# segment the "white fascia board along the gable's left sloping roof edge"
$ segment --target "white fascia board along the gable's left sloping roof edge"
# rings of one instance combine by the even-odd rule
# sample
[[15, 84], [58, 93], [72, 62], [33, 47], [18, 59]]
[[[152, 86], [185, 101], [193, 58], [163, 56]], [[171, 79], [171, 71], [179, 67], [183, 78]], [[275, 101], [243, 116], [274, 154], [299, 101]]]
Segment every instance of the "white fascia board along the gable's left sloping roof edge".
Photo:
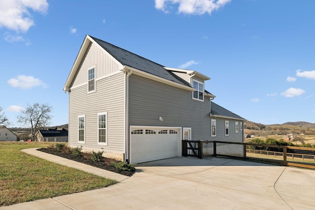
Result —
[[74, 76], [79, 68], [79, 65], [81, 64], [81, 61], [82, 59], [84, 58], [84, 55], [85, 55], [85, 52], [86, 50], [88, 49], [90, 43], [91, 43], [91, 37], [89, 35], [86, 35], [85, 36], [85, 39], [82, 43], [82, 46], [80, 48], [80, 51], [77, 55], [77, 58], [75, 59], [73, 65], [72, 65], [72, 68], [71, 68], [71, 71], [69, 73], [69, 76], [64, 84], [64, 87], [63, 87], [63, 90], [64, 91], [69, 91], [70, 90], [70, 85], [74, 79]]

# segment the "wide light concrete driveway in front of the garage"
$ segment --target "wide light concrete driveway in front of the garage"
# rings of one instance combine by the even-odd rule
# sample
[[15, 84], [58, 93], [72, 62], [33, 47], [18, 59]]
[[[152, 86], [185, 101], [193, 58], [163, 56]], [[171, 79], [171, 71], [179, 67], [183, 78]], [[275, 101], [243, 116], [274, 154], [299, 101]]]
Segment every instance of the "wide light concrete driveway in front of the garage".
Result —
[[176, 157], [136, 168], [106, 188], [1, 209], [315, 209], [315, 170], [218, 157]]

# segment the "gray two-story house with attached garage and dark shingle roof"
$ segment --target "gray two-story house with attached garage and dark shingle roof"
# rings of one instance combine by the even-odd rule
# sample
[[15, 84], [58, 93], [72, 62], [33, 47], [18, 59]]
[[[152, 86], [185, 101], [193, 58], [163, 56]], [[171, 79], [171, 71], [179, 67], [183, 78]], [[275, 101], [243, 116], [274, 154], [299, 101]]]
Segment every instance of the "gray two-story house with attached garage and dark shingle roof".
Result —
[[209, 79], [87, 35], [63, 88], [68, 144], [140, 163], [182, 156], [183, 139], [243, 142], [245, 119], [212, 101]]

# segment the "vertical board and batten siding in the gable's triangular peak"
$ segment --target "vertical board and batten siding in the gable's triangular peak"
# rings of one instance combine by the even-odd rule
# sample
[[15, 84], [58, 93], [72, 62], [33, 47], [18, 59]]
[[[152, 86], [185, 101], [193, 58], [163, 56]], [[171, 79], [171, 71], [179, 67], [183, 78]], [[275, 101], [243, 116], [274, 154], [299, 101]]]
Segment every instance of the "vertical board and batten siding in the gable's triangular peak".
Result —
[[97, 44], [90, 44], [72, 86], [88, 82], [88, 69], [95, 66], [95, 79], [123, 69], [123, 65]]

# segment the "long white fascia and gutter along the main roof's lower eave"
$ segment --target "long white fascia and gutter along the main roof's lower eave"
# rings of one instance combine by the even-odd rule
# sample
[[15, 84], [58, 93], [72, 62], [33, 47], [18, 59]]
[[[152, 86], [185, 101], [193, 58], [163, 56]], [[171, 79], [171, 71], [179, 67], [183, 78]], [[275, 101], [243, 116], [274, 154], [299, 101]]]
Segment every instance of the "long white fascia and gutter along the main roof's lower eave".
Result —
[[149, 74], [147, 72], [141, 71], [139, 69], [136, 69], [136, 68], [133, 68], [133, 67], [130, 67], [130, 66], [127, 66], [127, 65], [124, 65], [124, 68], [121, 69], [121, 71], [128, 71], [128, 70], [131, 70], [132, 74], [136, 74], [136, 75], [139, 75], [139, 76], [142, 76], [142, 77], [154, 80], [154, 81], [158, 81], [160, 83], [167, 84], [167, 85], [170, 85], [170, 86], [173, 86], [173, 87], [177, 87], [177, 88], [181, 88], [181, 89], [189, 90], [189, 91], [194, 91], [195, 90], [192, 87], [189, 87], [189, 86], [186, 86], [186, 85], [182, 85], [182, 84], [179, 84], [179, 83], [176, 83], [176, 82], [173, 82], [173, 81], [170, 81], [170, 80], [158, 77], [158, 76], [153, 75], [153, 74]]

